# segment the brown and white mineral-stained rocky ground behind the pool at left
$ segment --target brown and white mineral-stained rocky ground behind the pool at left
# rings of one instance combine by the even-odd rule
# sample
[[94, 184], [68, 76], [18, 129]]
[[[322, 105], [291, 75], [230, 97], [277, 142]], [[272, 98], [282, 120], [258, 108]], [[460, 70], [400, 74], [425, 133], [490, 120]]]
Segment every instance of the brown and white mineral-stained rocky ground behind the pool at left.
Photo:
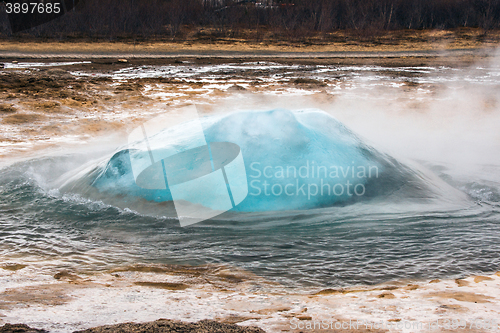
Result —
[[[301, 74], [290, 76], [290, 66], [466, 66], [482, 55], [358, 57], [358, 58], [218, 58], [184, 57], [163, 59], [1, 59], [6, 67], [0, 73], [0, 156], [13, 157], [26, 150], [82, 142], [104, 134], [126, 132], [151, 118], [154, 112], [183, 103], [213, 104], [235, 93], [275, 93], [287, 90], [311, 95], [314, 102], [328, 103], [332, 93], [326, 89], [340, 78], [314, 79]], [[50, 62], [71, 65], [45, 66]], [[7, 64], [37, 62], [33, 67], [8, 67]], [[243, 63], [263, 64], [252, 70], [221, 70], [217, 66]], [[145, 66], [171, 66], [190, 71], [208, 71], [190, 77], [113, 77], [120, 71]], [[283, 66], [270, 69], [269, 66]], [[258, 66], [258, 65], [256, 65]], [[287, 67], [288, 66], [288, 67]], [[76, 73], [76, 74], [75, 74]], [[114, 73], [114, 74], [113, 74]], [[298, 73], [298, 74], [297, 74]], [[288, 77], [287, 77], [288, 75]], [[294, 76], [295, 75], [295, 76]], [[395, 78], [408, 73], [391, 71]], [[419, 88], [408, 81], [408, 89]], [[261, 94], [262, 95], [262, 94]], [[156, 111], [155, 111], [156, 110]]]

